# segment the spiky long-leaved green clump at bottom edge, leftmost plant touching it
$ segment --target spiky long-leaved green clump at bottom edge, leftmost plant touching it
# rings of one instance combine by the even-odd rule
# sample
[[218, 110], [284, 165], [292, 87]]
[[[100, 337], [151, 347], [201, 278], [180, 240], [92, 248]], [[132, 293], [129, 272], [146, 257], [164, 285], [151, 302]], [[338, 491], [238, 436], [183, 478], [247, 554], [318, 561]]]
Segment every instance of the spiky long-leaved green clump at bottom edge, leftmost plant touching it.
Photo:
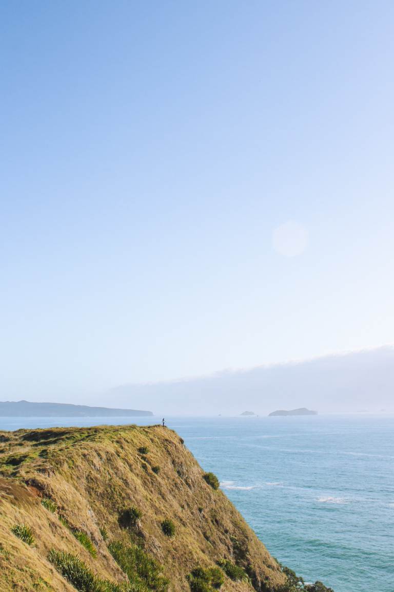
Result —
[[73, 553], [51, 549], [48, 560], [79, 592], [132, 592], [122, 584], [99, 578]]

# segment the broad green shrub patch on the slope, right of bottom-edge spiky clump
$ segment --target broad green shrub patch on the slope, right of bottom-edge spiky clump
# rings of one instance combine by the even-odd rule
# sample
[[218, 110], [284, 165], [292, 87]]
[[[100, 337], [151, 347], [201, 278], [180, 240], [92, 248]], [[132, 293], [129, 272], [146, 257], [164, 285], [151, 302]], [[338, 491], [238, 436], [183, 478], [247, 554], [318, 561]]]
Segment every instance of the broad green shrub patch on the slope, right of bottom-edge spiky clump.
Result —
[[161, 574], [161, 565], [138, 545], [116, 541], [110, 543], [108, 549], [131, 583], [155, 592], [167, 592], [169, 581]]

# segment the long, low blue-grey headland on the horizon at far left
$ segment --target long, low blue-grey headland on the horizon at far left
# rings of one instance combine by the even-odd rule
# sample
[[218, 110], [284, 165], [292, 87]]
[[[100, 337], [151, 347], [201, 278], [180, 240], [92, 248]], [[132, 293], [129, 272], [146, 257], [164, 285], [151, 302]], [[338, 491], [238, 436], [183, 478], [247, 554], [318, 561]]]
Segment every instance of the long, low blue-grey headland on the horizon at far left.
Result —
[[30, 401], [0, 401], [0, 417], [144, 417], [152, 411], [89, 407], [68, 403], [31, 403]]

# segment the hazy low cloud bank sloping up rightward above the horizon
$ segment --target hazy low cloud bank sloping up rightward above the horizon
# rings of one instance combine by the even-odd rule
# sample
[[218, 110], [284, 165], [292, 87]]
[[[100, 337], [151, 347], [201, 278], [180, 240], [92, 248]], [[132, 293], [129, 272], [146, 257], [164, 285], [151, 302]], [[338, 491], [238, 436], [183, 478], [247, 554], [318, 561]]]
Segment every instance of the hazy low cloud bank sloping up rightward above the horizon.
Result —
[[320, 413], [394, 411], [394, 348], [219, 372], [155, 384], [125, 384], [102, 395], [111, 406], [158, 414], [266, 414], [309, 407]]

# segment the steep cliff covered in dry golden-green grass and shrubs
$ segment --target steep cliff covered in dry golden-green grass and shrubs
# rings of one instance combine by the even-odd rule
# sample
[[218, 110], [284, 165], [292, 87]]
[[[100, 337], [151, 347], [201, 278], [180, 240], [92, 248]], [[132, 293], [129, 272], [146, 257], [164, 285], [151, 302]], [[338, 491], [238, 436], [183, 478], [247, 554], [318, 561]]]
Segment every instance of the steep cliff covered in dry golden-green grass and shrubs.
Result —
[[214, 475], [162, 426], [0, 432], [0, 586], [291, 590]]

